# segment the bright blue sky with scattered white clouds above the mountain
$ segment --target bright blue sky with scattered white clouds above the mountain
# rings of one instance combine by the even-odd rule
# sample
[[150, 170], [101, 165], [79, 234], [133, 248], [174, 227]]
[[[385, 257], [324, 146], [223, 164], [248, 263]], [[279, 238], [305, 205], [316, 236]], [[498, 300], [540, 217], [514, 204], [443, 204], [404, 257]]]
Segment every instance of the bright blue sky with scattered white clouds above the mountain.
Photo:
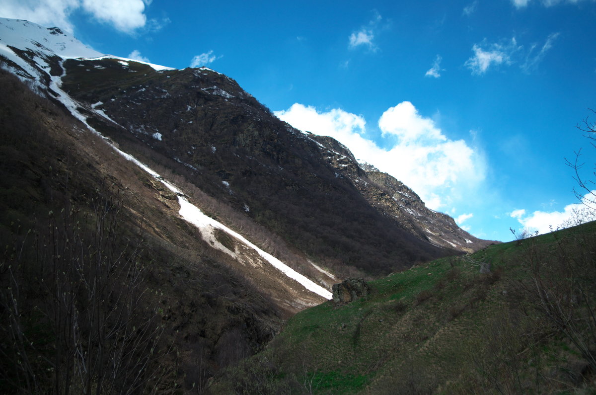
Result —
[[486, 239], [558, 226], [577, 203], [565, 158], [594, 163], [575, 127], [596, 107], [592, 0], [5, 0], [0, 17], [225, 73]]

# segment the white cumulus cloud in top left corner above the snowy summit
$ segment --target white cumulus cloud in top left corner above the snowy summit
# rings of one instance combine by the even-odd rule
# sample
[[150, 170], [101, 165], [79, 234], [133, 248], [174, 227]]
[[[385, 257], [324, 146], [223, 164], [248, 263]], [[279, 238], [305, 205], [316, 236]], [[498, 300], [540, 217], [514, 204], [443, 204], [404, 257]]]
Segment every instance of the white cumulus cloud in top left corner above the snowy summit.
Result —
[[70, 15], [75, 10], [82, 10], [117, 30], [132, 33], [147, 23], [145, 5], [148, 4], [148, 0], [4, 0], [0, 4], [0, 15], [58, 26], [72, 33], [74, 27]]

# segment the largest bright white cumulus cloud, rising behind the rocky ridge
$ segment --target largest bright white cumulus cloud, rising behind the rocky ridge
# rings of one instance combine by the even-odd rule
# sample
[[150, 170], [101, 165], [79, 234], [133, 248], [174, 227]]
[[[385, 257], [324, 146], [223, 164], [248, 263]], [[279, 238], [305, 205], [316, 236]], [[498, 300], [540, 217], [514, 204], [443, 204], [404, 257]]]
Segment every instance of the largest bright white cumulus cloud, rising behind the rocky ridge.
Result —
[[450, 140], [409, 101], [387, 109], [378, 121], [387, 149], [367, 138], [366, 121], [341, 109], [319, 112], [293, 104], [275, 115], [295, 128], [328, 135], [347, 146], [359, 161], [375, 165], [411, 187], [427, 206], [439, 209], [463, 198], [485, 178], [481, 153], [464, 140]]

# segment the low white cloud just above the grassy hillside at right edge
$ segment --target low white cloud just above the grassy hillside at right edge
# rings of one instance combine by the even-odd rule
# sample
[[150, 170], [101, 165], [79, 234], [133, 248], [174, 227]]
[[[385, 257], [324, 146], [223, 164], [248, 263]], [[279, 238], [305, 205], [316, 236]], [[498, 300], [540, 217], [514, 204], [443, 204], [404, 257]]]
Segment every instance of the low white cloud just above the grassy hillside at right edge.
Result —
[[[596, 191], [592, 191], [592, 194]], [[538, 233], [548, 233], [552, 229], [579, 225], [596, 220], [596, 204], [590, 201], [592, 195], [586, 195], [581, 203], [566, 205], [563, 211], [534, 211], [526, 215], [525, 209], [511, 212], [510, 217], [516, 218], [524, 229]]]

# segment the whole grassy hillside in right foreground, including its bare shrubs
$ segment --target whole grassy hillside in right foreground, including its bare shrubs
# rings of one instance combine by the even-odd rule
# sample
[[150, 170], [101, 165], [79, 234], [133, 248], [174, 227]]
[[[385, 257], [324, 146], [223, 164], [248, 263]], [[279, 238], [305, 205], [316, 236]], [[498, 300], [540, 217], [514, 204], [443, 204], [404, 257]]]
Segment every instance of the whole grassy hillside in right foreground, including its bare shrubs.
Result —
[[594, 393], [595, 248], [588, 223], [390, 274], [296, 314], [213, 393]]

